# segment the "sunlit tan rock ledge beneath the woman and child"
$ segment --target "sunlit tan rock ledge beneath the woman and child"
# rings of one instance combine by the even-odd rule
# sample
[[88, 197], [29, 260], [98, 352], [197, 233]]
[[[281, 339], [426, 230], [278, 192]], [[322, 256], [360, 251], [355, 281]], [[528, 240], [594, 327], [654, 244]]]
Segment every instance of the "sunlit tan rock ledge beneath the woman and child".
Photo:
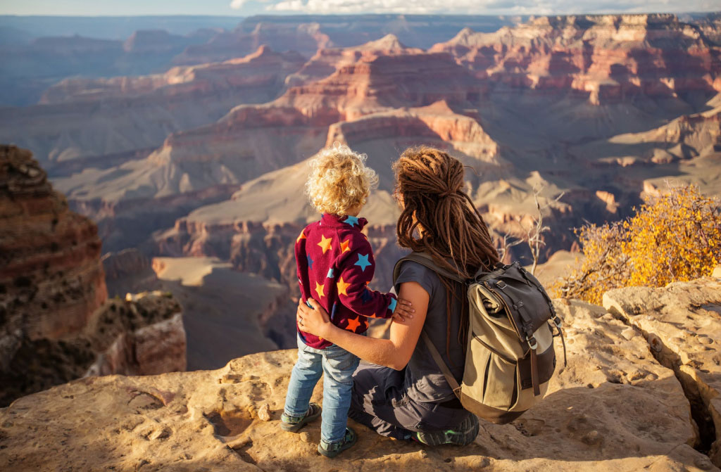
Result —
[[[696, 307], [718, 303], [720, 280], [624, 290], [612, 293], [640, 313], [629, 319], [641, 316], [681, 331], [718, 319], [717, 312], [702, 313]], [[664, 290], [673, 293], [661, 295]], [[645, 314], [667, 302], [678, 313], [668, 311], [673, 316], [668, 324], [655, 320], [655, 313]], [[335, 460], [319, 457], [320, 422], [300, 434], [279, 429], [296, 357], [289, 350], [249, 355], [212, 371], [76, 380], [21, 398], [0, 411], [0, 464], [121, 471], [337, 471], [358, 466], [368, 471], [718, 471], [715, 459], [692, 447], [699, 438], [692, 419], [695, 407], [674, 371], [656, 360], [655, 338], [649, 344], [646, 329], [616, 319], [618, 311], [608, 313], [576, 300], [554, 303], [566, 326], [567, 367], [559, 362], [546, 398], [537, 406], [510, 424], [481, 422], [475, 442], [462, 449], [392, 441], [349, 421], [359, 433], [358, 443]], [[718, 355], [712, 337], [681, 336], [694, 356]], [[560, 342], [557, 352], [561, 355]], [[717, 365], [712, 357], [704, 358], [710, 361], [703, 366], [711, 369], [707, 378], [713, 378]], [[321, 390], [318, 386], [314, 401], [322, 401]], [[59, 445], [63, 453], [48, 454]]]

